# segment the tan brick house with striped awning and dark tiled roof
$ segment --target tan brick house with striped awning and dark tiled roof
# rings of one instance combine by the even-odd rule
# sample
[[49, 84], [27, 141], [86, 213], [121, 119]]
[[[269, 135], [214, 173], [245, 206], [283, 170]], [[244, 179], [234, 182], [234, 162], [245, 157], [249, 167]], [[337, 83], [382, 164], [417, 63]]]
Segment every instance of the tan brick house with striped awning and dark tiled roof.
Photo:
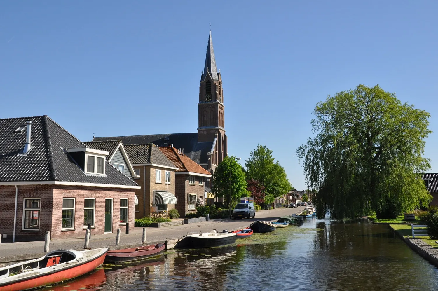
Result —
[[153, 143], [124, 145], [124, 149], [136, 174], [134, 181], [141, 186], [135, 192], [138, 199], [135, 218], [150, 216], [151, 207], [157, 207], [158, 213], [175, 208], [178, 168]]

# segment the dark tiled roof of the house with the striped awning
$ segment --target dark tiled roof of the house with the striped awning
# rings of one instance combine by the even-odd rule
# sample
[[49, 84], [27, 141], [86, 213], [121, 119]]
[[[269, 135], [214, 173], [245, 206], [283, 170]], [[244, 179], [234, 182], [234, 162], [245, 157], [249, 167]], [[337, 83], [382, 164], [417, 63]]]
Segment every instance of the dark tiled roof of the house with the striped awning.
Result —
[[154, 144], [124, 145], [129, 160], [134, 164], [153, 163], [166, 167], [176, 167]]

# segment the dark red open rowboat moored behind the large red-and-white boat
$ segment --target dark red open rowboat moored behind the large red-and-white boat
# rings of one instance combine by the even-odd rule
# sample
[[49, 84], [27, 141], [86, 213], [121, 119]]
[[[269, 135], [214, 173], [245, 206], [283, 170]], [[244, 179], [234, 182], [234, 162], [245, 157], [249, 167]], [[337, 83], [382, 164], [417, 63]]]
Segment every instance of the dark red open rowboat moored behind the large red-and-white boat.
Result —
[[147, 259], [161, 254], [165, 247], [165, 244], [156, 244], [145, 245], [138, 248], [116, 249], [106, 253], [105, 262], [120, 263]]

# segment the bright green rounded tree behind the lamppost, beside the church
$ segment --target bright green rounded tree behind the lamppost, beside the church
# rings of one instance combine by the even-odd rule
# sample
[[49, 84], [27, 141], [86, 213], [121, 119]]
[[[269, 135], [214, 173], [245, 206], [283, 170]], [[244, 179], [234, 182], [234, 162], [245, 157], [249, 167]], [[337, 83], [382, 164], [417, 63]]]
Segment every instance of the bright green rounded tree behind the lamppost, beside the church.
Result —
[[[230, 180], [231, 169], [231, 180]], [[230, 200], [230, 186], [231, 186], [231, 200]], [[240, 200], [240, 197], [248, 195], [247, 180], [244, 169], [236, 161], [234, 156], [226, 156], [221, 163], [216, 167], [213, 174], [212, 192], [215, 197], [223, 197], [227, 207]]]

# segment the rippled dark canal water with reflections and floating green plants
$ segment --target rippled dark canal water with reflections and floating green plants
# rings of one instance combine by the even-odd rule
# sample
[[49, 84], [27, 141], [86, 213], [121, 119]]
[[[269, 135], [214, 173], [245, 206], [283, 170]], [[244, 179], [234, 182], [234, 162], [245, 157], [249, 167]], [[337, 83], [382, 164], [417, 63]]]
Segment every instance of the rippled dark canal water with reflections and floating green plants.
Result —
[[174, 249], [102, 269], [44, 291], [437, 290], [438, 269], [387, 225], [307, 219], [238, 244]]

